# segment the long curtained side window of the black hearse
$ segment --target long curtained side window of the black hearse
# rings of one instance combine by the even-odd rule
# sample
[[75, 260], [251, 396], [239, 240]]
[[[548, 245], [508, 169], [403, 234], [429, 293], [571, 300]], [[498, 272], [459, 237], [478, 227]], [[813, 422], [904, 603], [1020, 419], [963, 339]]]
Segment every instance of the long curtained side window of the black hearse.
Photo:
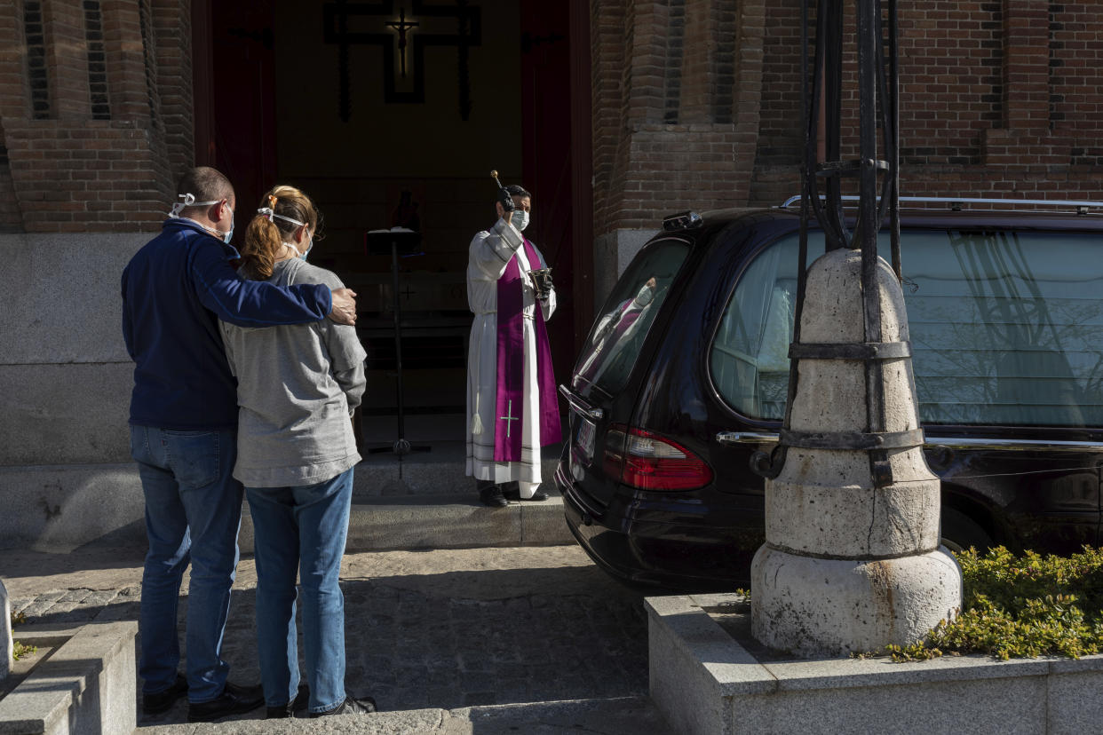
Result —
[[[794, 235], [754, 258], [713, 343], [713, 382], [749, 418], [784, 417], [796, 248]], [[1103, 426], [1097, 236], [906, 230], [901, 250], [923, 423]]]

